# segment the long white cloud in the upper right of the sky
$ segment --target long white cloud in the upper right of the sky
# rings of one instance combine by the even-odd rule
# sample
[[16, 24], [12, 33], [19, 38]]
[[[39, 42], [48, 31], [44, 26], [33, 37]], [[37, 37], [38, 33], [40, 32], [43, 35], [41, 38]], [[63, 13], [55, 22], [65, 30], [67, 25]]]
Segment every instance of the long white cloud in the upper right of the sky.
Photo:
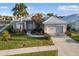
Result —
[[59, 11], [79, 11], [79, 6], [69, 5], [69, 6], [58, 6]]

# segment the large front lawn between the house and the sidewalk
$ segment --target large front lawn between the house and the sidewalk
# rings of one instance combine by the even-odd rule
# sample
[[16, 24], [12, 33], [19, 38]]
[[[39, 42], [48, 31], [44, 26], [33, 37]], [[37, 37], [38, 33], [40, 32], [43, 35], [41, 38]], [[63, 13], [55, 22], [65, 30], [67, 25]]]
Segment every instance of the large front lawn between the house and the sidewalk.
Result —
[[11, 37], [9, 41], [1, 41], [0, 37], [0, 50], [53, 45], [48, 37], [35, 38], [19, 34], [11, 35]]

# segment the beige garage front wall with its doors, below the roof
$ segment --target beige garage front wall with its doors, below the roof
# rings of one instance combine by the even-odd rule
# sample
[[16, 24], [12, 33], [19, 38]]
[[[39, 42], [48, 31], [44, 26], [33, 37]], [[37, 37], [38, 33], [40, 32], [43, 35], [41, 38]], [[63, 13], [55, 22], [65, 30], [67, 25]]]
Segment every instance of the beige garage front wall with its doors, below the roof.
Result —
[[62, 33], [65, 33], [65, 30], [66, 27], [63, 27], [63, 26], [53, 26], [53, 25], [46, 25], [45, 27], [45, 33], [48, 33], [48, 34], [52, 34], [52, 35], [59, 35], [59, 34], [62, 34]]

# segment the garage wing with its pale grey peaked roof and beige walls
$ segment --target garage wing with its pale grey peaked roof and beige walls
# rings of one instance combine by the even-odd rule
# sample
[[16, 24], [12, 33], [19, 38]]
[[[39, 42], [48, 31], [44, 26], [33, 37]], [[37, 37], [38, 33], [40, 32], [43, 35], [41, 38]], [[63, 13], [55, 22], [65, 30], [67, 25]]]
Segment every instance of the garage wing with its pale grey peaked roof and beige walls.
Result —
[[67, 23], [59, 18], [51, 17], [43, 22], [45, 33], [60, 35], [66, 32]]

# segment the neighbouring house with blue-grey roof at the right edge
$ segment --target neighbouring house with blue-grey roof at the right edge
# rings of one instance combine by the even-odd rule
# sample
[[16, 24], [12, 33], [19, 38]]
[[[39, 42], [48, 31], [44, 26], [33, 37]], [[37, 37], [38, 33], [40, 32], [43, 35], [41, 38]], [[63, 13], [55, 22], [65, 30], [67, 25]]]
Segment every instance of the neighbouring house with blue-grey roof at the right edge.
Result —
[[71, 30], [79, 31], [79, 14], [64, 16], [62, 19], [68, 22]]

